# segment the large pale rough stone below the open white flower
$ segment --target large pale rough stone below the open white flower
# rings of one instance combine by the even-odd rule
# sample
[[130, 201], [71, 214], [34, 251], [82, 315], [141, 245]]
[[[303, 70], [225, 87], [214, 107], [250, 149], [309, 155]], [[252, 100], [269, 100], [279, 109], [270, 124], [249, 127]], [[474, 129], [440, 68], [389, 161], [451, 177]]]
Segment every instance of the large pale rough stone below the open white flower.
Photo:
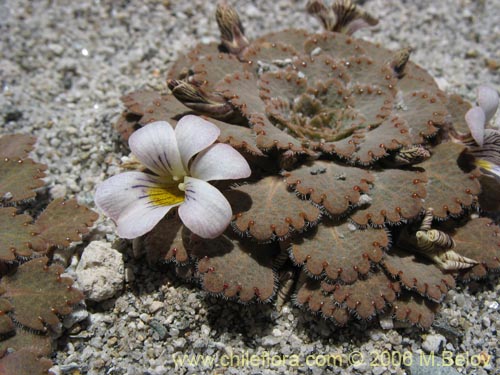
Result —
[[123, 256], [108, 242], [92, 241], [83, 251], [75, 273], [86, 298], [104, 301], [123, 287]]

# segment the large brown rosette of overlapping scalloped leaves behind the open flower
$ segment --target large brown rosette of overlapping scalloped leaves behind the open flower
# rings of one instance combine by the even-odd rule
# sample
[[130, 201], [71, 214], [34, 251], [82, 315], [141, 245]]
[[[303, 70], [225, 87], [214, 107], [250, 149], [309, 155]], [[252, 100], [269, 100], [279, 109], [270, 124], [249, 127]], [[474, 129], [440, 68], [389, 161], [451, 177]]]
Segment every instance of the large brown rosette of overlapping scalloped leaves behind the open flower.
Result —
[[[480, 172], [462, 169], [466, 146], [449, 141], [455, 125], [463, 130], [448, 110], [456, 96], [410, 61], [411, 48], [353, 37], [375, 21], [350, 1], [310, 1], [308, 11], [323, 32], [251, 40], [221, 3], [220, 44], [181, 54], [170, 91], [123, 97], [116, 128], [124, 140], [149, 122], [175, 126], [197, 114], [253, 171], [225, 188], [234, 217], [223, 236], [197, 238], [174, 214], [144, 246], [150, 259], [174, 263], [223, 298], [270, 302], [285, 288], [333, 324], [390, 313], [428, 328], [459, 274], [479, 278], [500, 266], [498, 227], [470, 219]], [[490, 241], [487, 253], [478, 233]]]

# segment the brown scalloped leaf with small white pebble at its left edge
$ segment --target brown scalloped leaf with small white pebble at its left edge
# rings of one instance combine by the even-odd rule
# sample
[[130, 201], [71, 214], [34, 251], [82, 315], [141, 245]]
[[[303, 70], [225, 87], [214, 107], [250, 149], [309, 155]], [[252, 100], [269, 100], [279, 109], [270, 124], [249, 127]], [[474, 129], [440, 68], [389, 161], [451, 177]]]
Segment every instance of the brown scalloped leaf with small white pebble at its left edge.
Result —
[[368, 192], [369, 207], [356, 211], [351, 219], [358, 225], [398, 224], [416, 218], [425, 197], [425, 173], [386, 169], [373, 171], [375, 180]]

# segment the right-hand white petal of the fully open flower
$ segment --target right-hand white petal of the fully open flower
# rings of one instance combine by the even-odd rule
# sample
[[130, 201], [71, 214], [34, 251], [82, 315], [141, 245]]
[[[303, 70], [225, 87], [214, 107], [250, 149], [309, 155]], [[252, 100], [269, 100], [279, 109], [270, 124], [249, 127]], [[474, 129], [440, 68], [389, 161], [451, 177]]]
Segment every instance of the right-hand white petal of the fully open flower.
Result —
[[189, 174], [203, 181], [235, 180], [249, 177], [252, 171], [241, 154], [229, 145], [217, 143], [200, 152]]

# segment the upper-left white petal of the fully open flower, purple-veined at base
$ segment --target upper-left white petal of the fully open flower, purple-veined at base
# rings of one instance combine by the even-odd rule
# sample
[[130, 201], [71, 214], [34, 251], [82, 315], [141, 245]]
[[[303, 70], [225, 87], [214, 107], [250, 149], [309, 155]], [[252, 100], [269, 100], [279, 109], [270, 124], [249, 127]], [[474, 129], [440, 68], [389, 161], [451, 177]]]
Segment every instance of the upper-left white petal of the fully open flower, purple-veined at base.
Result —
[[174, 129], [168, 122], [156, 121], [136, 130], [128, 144], [137, 159], [159, 176], [186, 175]]

